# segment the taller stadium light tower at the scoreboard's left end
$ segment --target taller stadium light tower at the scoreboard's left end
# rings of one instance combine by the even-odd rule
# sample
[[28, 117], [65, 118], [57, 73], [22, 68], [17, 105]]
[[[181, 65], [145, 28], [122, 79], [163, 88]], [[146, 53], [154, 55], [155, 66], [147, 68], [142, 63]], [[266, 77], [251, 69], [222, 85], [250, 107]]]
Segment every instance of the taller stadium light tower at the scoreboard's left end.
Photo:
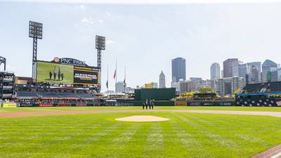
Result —
[[29, 36], [33, 38], [32, 79], [36, 79], [37, 39], [42, 39], [43, 24], [30, 21]]

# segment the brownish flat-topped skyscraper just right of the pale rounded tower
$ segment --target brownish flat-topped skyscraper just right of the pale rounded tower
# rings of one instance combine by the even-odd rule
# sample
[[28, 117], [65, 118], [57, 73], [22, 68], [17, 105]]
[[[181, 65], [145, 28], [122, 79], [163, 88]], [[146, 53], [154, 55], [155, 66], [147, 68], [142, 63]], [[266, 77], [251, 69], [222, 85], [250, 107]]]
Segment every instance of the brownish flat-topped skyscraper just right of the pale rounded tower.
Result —
[[230, 58], [223, 62], [223, 77], [238, 77], [239, 69], [238, 69], [239, 61], [237, 58]]

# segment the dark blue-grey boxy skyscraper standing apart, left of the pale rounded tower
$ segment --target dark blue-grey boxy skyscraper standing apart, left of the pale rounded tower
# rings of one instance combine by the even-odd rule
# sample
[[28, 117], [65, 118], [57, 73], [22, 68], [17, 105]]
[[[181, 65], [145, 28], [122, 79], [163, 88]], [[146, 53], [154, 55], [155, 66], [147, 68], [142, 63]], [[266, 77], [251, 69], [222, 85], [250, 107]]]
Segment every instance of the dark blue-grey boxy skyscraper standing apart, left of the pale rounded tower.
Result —
[[175, 58], [171, 60], [171, 78], [176, 79], [178, 82], [179, 79], [186, 79], [186, 67], [184, 58]]

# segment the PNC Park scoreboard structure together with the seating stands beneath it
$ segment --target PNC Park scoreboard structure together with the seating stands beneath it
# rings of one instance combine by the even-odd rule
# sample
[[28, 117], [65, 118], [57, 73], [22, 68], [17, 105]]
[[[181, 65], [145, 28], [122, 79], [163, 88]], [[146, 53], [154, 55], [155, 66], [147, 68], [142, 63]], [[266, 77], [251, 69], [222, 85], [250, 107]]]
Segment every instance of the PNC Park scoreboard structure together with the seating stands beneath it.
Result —
[[81, 60], [57, 58], [37, 60], [35, 80], [15, 77], [15, 100], [19, 106], [90, 106], [98, 99], [100, 68]]

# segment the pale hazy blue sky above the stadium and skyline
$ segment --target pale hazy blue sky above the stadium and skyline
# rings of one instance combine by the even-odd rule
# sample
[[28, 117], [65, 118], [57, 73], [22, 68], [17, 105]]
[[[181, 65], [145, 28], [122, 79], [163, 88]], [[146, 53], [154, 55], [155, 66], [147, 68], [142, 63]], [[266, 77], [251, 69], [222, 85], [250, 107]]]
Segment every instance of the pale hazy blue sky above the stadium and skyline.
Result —
[[[54, 1], [53, 1], [54, 2]], [[71, 2], [71, 3], [70, 3]], [[186, 60], [187, 78], [210, 78], [210, 66], [238, 58], [242, 62], [281, 63], [281, 2], [101, 4], [68, 1], [1, 1], [0, 56], [6, 70], [31, 77], [29, 20], [43, 23], [38, 60], [76, 58], [96, 66], [96, 34], [106, 37], [102, 51], [102, 91], [117, 80], [136, 88], [159, 81], [163, 70], [171, 86], [171, 60]], [[0, 70], [3, 66], [0, 67]]]

